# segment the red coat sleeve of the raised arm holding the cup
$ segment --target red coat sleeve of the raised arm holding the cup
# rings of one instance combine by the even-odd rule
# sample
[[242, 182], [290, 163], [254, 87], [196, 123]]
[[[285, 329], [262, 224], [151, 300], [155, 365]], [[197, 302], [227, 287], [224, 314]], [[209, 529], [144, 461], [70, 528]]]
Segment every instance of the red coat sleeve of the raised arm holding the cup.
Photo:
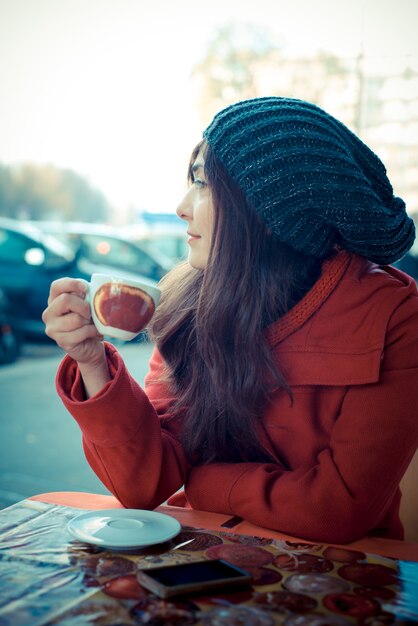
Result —
[[143, 390], [111, 344], [106, 353], [112, 380], [97, 395], [84, 400], [77, 365], [68, 356], [58, 370], [57, 390], [106, 488], [127, 508], [152, 509], [184, 484], [188, 471], [167, 385], [158, 382], [164, 362], [155, 350]]

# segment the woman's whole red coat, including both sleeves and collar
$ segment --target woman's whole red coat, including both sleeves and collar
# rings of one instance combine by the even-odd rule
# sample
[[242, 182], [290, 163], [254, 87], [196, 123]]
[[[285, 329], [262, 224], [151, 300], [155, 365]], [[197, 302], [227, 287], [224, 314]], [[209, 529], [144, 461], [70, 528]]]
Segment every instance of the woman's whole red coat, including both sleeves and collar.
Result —
[[277, 459], [267, 464], [189, 466], [157, 351], [144, 391], [108, 344], [113, 380], [86, 401], [66, 357], [58, 390], [94, 471], [126, 507], [154, 508], [185, 485], [196, 509], [306, 539], [402, 538], [399, 482], [418, 446], [414, 281], [341, 252], [268, 338], [293, 403], [277, 391], [263, 416], [261, 441]]

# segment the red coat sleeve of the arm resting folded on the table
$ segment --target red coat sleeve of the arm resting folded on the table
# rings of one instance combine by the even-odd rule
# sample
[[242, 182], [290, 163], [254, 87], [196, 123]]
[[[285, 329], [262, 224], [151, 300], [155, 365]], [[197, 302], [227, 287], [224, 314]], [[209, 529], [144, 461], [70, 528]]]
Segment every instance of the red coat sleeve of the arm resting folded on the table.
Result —
[[[393, 512], [399, 482], [418, 446], [417, 407], [414, 297], [392, 314], [379, 381], [348, 388], [329, 446], [315, 464], [294, 471], [274, 463], [196, 467], [186, 483], [187, 499], [194, 508], [291, 535], [354, 541]], [[392, 519], [396, 523], [401, 534], [399, 520]]]

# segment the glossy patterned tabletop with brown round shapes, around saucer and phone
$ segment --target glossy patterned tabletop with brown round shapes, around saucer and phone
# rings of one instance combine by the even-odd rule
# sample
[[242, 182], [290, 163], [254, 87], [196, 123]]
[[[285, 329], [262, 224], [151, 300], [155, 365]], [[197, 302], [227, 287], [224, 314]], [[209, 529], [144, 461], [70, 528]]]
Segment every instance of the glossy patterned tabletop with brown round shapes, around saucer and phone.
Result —
[[[110, 508], [122, 508], [112, 496], [59, 492], [0, 511], [1, 626], [383, 626], [418, 619], [415, 544], [309, 543], [169, 506], [157, 510], [182, 529], [158, 546], [114, 552], [69, 535], [67, 523], [81, 510]], [[208, 558], [247, 569], [251, 586], [163, 601], [136, 580], [138, 569]]]

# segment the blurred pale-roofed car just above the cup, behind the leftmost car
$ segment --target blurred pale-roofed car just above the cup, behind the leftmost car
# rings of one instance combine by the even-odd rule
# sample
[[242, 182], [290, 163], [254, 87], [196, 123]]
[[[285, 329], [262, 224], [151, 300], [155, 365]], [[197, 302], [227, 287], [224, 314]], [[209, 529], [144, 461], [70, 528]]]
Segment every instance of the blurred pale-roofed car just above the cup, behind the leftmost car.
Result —
[[31, 222], [44, 233], [70, 246], [78, 258], [111, 265], [159, 281], [173, 266], [158, 250], [152, 251], [131, 240], [122, 230], [83, 222]]

